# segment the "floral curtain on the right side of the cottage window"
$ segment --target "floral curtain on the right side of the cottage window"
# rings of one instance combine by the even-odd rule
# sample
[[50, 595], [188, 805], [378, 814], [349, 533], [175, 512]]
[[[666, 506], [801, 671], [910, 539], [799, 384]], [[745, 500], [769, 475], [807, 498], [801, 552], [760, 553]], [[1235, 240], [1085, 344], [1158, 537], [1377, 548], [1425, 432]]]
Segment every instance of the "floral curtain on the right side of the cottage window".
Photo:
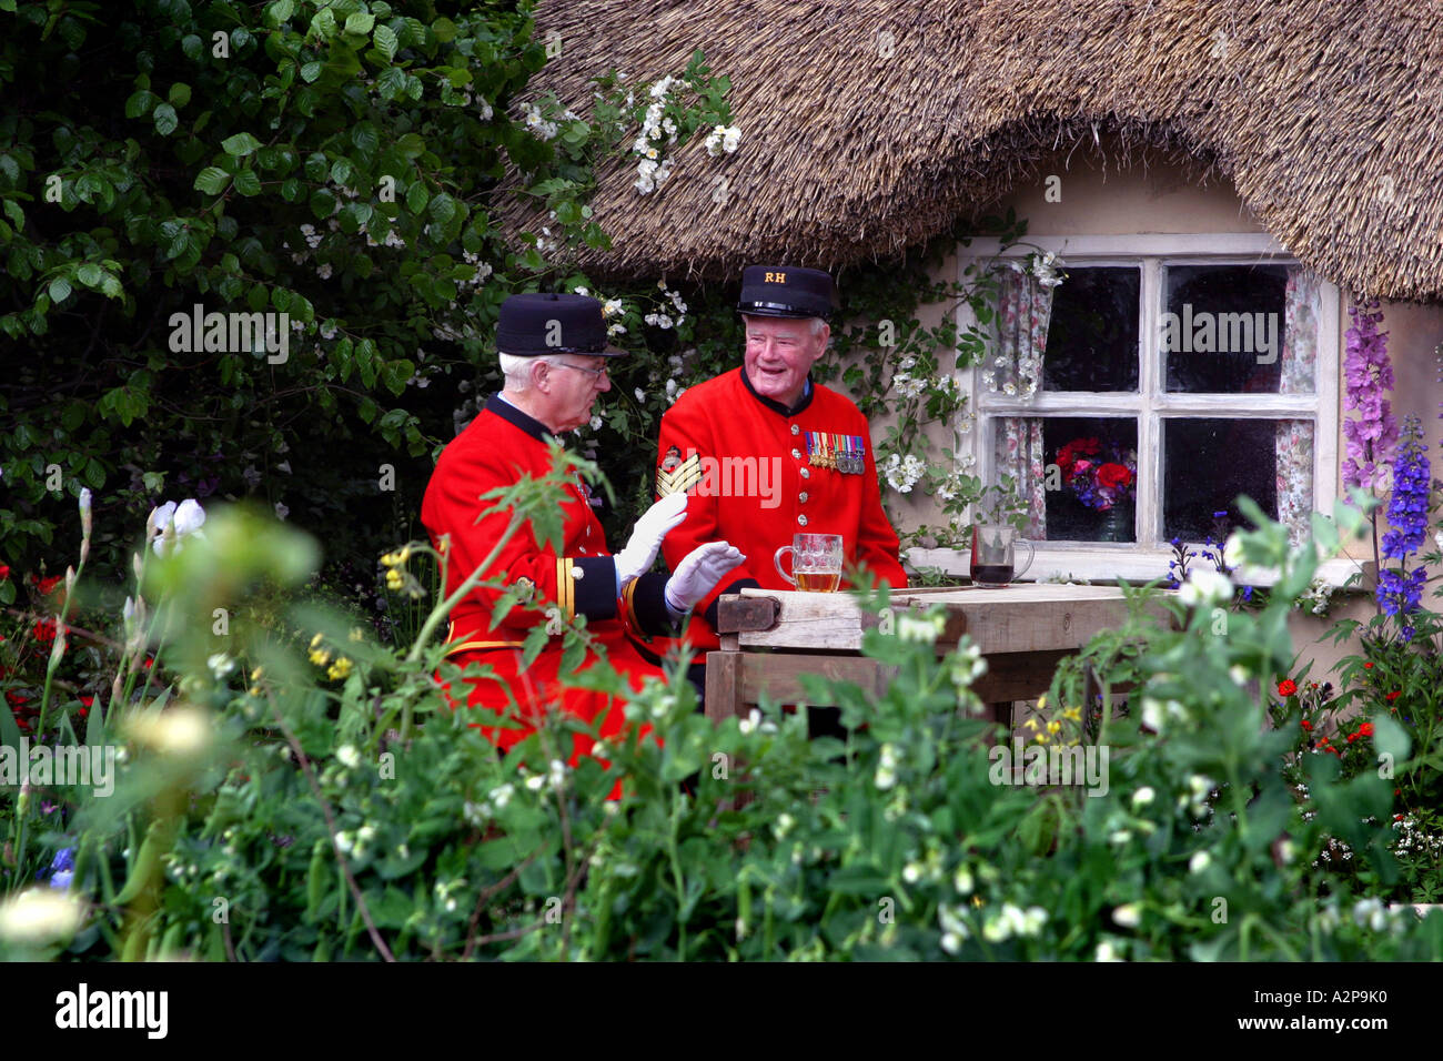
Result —
[[[1322, 281], [1302, 266], [1287, 270], [1280, 394], [1313, 394], [1317, 380], [1317, 320], [1322, 315]], [[1277, 518], [1299, 544], [1313, 511], [1312, 420], [1278, 420], [1274, 436], [1277, 465]]]

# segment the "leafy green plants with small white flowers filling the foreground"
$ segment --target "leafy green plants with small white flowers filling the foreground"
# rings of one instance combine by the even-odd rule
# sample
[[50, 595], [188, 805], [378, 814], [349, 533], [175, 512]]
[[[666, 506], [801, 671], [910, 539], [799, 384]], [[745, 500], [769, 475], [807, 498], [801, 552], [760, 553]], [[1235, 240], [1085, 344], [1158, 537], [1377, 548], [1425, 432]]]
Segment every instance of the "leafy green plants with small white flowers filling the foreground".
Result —
[[[517, 484], [512, 528], [554, 508], [567, 475], [563, 462]], [[1277, 524], [1241, 546], [1287, 586], [1316, 566], [1312, 543], [1290, 551]], [[387, 567], [405, 570], [416, 549]], [[867, 632], [864, 652], [895, 668], [880, 697], [808, 678], [808, 697], [841, 704], [846, 741], [810, 741], [804, 713], [771, 704], [713, 725], [674, 667], [631, 697], [625, 742], [576, 768], [574, 719], [551, 717], [501, 758], [469, 723], [504, 719], [452, 710], [433, 678], [439, 667], [462, 680], [433, 644], [450, 602], [408, 650], [309, 609], [291, 616], [313, 631], [309, 661], [263, 628], [232, 628], [214, 651], [198, 621], [208, 609], [240, 612], [267, 580], [294, 586], [316, 554], [268, 518], [219, 512], [205, 538], [146, 563], [137, 590], [156, 606], [140, 641], [172, 645], [177, 696], [117, 697], [91, 719], [92, 743], [126, 749], [114, 795], [42, 788], [14, 803], [7, 889], [48, 876], [58, 849], [74, 853], [74, 875], [42, 892], [65, 911], [48, 934], [19, 938], [13, 907], [0, 909], [7, 954], [1443, 957], [1443, 917], [1390, 914], [1355, 891], [1362, 875], [1309, 862], [1338, 837], [1394, 879], [1368, 823], [1387, 813], [1391, 781], [1310, 756], [1312, 798], [1293, 798], [1291, 733], [1267, 728], [1248, 689], [1290, 655], [1271, 635], [1286, 629], [1284, 595], [1224, 637], [1206, 609], [1176, 603], [1176, 629], [1128, 625], [1134, 710], [1087, 728], [1058, 700], [1029, 738], [1105, 751], [1101, 774], [1039, 790], [1013, 784], [999, 767], [1010, 749], [983, 741], [971, 683], [986, 664], [965, 638], [938, 655], [941, 615], [898, 612]], [[574, 680], [623, 681], [605, 665]], [[22, 839], [16, 857], [27, 827], [40, 843], [26, 853]]]

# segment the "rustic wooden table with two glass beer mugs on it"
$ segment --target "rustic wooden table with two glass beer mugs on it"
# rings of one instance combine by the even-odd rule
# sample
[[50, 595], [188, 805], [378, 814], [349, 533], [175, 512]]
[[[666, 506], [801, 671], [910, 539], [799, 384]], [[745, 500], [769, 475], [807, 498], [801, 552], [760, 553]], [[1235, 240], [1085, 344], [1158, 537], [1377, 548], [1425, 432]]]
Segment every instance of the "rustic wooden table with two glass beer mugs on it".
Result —
[[[1127, 616], [1123, 590], [1113, 586], [1017, 583], [1006, 589], [928, 588], [892, 595], [895, 615], [942, 605], [947, 625], [938, 652], [967, 634], [987, 658], [987, 673], [973, 686], [993, 704], [999, 722], [1010, 719], [1013, 700], [1045, 693], [1065, 655], [1092, 635], [1115, 629]], [[1160, 616], [1166, 611], [1152, 609]], [[817, 703], [805, 696], [802, 674], [853, 681], [880, 697], [895, 674], [860, 655], [861, 635], [882, 616], [864, 612], [851, 593], [797, 593], [743, 589], [720, 599], [722, 651], [707, 652], [707, 717], [745, 715], [762, 694], [781, 703]], [[768, 651], [769, 650], [769, 651]]]

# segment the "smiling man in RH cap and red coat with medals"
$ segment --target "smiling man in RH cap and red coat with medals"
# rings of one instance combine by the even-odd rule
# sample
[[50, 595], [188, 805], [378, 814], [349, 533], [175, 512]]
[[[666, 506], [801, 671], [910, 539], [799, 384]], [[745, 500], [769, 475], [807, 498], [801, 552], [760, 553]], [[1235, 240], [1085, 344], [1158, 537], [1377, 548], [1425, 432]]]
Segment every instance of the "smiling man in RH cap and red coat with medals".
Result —
[[746, 554], [697, 602], [706, 625], [694, 622], [688, 632], [698, 650], [719, 647], [722, 593], [794, 589], [773, 553], [798, 531], [840, 534], [844, 564], [869, 570], [877, 583], [906, 586], [898, 536], [882, 511], [867, 420], [847, 397], [810, 378], [831, 338], [833, 302], [831, 274], [823, 270], [747, 267], [737, 306], [746, 322], [742, 365], [688, 388], [661, 417], [657, 495], [691, 494], [687, 521], [662, 544], [667, 562], [711, 538]]

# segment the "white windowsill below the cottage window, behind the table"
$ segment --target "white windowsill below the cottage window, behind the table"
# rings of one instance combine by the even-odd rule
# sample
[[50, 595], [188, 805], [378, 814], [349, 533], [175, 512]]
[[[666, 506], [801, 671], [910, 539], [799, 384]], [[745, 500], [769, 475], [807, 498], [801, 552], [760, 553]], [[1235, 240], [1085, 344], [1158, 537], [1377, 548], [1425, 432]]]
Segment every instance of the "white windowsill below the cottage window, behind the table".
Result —
[[[1121, 577], [1140, 585], [1152, 579], [1166, 579], [1167, 563], [1172, 559], [1170, 549], [1154, 550], [1134, 546], [1039, 549], [1038, 559], [1017, 582], [1065, 577], [1100, 583], [1115, 582]], [[971, 554], [961, 549], [909, 549], [905, 560], [912, 570], [939, 569], [952, 576], [967, 575], [971, 570]], [[1206, 564], [1206, 562], [1203, 563]], [[1211, 564], [1206, 566], [1211, 567]], [[1317, 577], [1329, 586], [1341, 588], [1349, 577], [1361, 572], [1361, 560], [1335, 557], [1319, 564]], [[1277, 570], [1244, 567], [1234, 575], [1234, 580], [1244, 586], [1271, 586], [1277, 582]]]

